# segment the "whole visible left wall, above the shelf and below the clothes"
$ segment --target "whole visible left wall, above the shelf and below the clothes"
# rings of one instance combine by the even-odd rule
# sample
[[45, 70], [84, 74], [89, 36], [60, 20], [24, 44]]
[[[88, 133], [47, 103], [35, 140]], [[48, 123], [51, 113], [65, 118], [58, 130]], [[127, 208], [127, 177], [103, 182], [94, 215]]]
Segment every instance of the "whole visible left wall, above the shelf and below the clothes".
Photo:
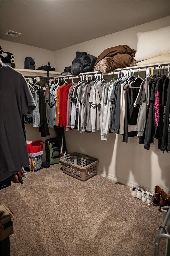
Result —
[[[16, 68], [24, 68], [25, 57], [32, 57], [35, 59], [36, 69], [40, 66], [47, 65], [51, 62], [51, 66], [54, 67], [54, 52], [41, 49], [38, 47], [14, 43], [6, 40], [1, 40], [1, 47], [4, 51], [11, 52], [15, 58]], [[49, 129], [49, 137], [41, 137], [39, 128], [33, 127], [32, 124], [26, 125], [27, 143], [31, 143], [36, 140], [45, 141], [47, 138], [56, 137], [56, 133], [53, 128]], [[45, 147], [44, 147], [43, 161], [45, 161]]]

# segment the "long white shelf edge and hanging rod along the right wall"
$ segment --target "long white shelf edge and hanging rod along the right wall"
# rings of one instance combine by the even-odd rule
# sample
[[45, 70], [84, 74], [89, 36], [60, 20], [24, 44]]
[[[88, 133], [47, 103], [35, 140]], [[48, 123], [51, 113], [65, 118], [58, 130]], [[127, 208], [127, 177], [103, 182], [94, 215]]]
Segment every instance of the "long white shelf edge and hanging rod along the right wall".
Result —
[[[82, 76], [82, 75], [89, 75], [89, 77], [92, 75], [92, 74], [103, 74], [103, 76], [109, 76], [109, 75], [117, 75], [117, 74], [119, 74], [119, 72], [121, 71], [121, 70], [129, 70], [129, 69], [134, 69], [134, 72], [138, 72], [138, 70], [139, 70], [139, 72], [145, 72], [146, 71], [146, 68], [148, 68], [148, 67], [155, 67], [155, 70], [158, 70], [160, 67], [163, 67], [164, 69], [168, 69], [168, 65], [169, 65], [170, 63], [159, 63], [159, 64], [151, 64], [151, 65], [148, 65], [148, 66], [135, 66], [135, 67], [127, 67], [127, 68], [122, 68], [122, 69], [115, 69], [114, 71], [112, 71], [112, 72], [110, 72], [110, 73], [107, 73], [107, 74], [104, 74], [104, 73], [102, 73], [102, 72], [98, 72], [98, 71], [94, 71], [94, 72], [85, 72], [85, 73], [80, 73], [78, 76], [71, 76], [71, 75], [67, 75], [67, 76], [57, 76], [57, 77], [54, 77], [54, 78], [66, 78], [66, 79], [69, 79], [69, 78], [75, 78], [75, 79], [77, 79], [78, 77], [80, 77], [80, 76]], [[166, 65], [166, 66], [165, 66]], [[142, 68], [141, 68], [142, 67]]]

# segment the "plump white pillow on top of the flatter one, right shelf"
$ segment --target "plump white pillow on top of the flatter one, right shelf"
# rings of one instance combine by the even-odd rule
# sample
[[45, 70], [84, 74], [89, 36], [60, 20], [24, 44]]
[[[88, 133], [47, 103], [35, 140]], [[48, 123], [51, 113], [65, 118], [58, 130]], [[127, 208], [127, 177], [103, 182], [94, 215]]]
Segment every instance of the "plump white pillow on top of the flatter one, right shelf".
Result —
[[170, 26], [165, 28], [137, 33], [137, 52], [135, 60], [150, 59], [170, 51]]

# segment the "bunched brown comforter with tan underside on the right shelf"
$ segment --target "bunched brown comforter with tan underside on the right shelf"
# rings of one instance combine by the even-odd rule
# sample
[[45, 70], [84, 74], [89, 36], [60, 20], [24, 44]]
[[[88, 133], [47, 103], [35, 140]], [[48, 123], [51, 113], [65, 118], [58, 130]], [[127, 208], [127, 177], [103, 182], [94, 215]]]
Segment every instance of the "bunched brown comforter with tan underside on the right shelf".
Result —
[[116, 68], [129, 67], [132, 60], [134, 60], [136, 50], [130, 48], [128, 45], [118, 45], [107, 48], [98, 56], [94, 71], [108, 73]]

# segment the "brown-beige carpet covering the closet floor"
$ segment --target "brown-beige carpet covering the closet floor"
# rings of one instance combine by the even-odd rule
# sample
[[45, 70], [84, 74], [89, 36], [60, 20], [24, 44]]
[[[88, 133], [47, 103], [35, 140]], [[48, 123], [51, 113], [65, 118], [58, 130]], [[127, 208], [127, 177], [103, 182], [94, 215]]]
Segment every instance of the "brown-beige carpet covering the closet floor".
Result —
[[11, 256], [154, 255], [163, 222], [157, 207], [132, 198], [125, 185], [99, 175], [82, 182], [60, 167], [1, 190], [15, 214]]

